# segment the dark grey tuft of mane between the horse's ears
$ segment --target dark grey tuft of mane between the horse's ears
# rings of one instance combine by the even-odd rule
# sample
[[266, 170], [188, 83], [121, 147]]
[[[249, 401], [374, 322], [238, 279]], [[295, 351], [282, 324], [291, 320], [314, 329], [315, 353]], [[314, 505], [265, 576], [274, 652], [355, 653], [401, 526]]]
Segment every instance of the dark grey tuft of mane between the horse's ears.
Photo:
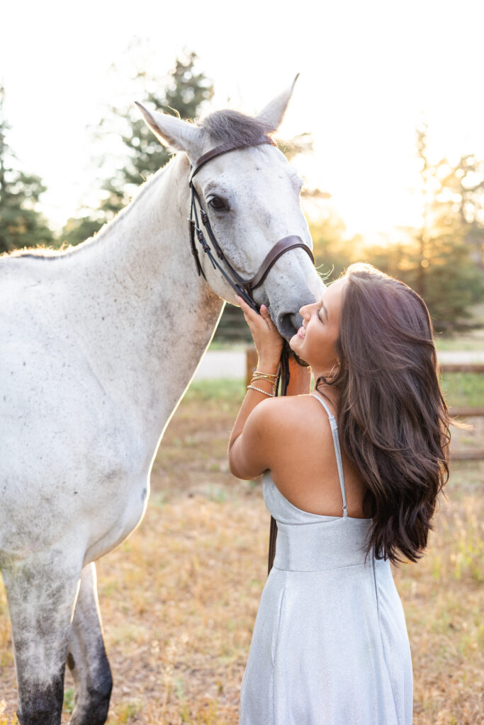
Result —
[[270, 124], [231, 110], [210, 113], [202, 119], [200, 128], [206, 130], [216, 143], [225, 144], [231, 141], [246, 146], [253, 146], [261, 137], [269, 138], [274, 132]]

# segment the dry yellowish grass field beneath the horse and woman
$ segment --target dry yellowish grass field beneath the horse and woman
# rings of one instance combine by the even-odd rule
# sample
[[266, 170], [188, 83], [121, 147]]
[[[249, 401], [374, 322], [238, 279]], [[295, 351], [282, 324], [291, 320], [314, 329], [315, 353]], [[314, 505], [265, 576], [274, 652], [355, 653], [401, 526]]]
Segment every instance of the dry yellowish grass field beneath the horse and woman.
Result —
[[[454, 405], [484, 405], [482, 378], [448, 376]], [[139, 529], [98, 564], [115, 687], [109, 722], [235, 725], [266, 579], [258, 481], [234, 479], [229, 431], [239, 381], [194, 384], [171, 421]], [[482, 421], [481, 421], [482, 422]], [[472, 447], [483, 426], [456, 431]], [[414, 663], [414, 725], [483, 722], [484, 461], [456, 462], [427, 554], [394, 570]], [[73, 705], [67, 675], [64, 721]], [[15, 673], [0, 589], [0, 725], [15, 722]]]

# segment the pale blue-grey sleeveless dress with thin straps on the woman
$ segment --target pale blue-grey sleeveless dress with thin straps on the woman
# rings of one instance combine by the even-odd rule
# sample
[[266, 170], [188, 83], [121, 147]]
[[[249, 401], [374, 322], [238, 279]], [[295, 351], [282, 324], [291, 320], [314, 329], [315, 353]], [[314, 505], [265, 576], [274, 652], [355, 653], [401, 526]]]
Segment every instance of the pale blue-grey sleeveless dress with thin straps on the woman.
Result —
[[409, 637], [389, 560], [363, 550], [372, 520], [348, 516], [337, 423], [329, 415], [343, 516], [292, 505], [263, 476], [277, 521], [242, 681], [239, 725], [411, 725]]

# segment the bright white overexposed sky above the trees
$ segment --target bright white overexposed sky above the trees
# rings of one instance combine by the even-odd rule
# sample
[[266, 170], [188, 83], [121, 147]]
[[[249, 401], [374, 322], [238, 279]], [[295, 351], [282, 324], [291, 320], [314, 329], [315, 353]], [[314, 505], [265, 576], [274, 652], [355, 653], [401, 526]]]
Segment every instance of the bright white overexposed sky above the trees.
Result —
[[300, 72], [282, 135], [313, 133], [313, 155], [296, 165], [351, 232], [418, 223], [422, 118], [436, 155], [484, 158], [483, 0], [26, 0], [1, 20], [10, 141], [48, 186], [43, 210], [58, 226], [89, 198], [86, 127], [116, 102], [108, 70], [134, 36], [147, 39], [160, 79], [184, 47], [196, 51], [214, 109], [230, 98], [257, 112]]

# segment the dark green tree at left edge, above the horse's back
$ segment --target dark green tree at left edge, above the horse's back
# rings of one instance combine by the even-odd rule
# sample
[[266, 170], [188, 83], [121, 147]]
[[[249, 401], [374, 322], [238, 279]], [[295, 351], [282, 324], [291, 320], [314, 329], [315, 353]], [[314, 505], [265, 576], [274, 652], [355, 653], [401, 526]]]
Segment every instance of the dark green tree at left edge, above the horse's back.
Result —
[[46, 187], [41, 178], [15, 169], [9, 148], [9, 124], [4, 116], [5, 89], [0, 86], [0, 253], [52, 244], [52, 231], [38, 212]]

